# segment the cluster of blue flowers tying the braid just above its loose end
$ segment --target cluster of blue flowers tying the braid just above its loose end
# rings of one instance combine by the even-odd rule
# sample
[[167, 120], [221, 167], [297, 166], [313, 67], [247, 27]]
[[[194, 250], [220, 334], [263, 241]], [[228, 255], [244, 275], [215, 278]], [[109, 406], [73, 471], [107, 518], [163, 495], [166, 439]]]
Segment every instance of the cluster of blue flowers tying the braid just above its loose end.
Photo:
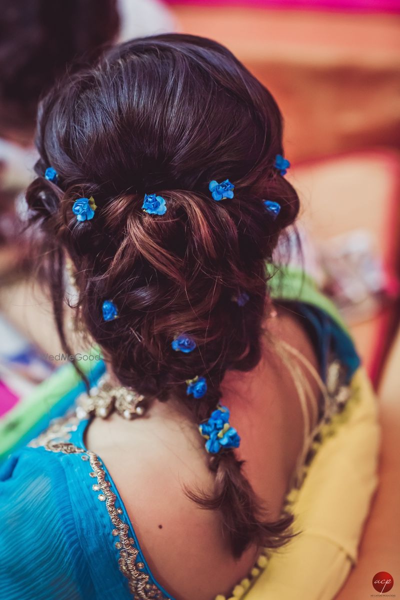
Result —
[[207, 440], [206, 451], [218, 454], [221, 448], [239, 448], [240, 436], [229, 424], [230, 412], [226, 406], [219, 406], [205, 423], [199, 425], [201, 435]]

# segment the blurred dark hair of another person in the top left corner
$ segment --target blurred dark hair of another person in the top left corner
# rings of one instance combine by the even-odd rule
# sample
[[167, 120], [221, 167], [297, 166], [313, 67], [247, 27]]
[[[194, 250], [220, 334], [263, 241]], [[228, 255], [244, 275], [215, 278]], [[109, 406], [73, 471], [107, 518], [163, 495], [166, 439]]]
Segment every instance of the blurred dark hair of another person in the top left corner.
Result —
[[33, 130], [40, 95], [118, 29], [116, 0], [2, 0], [0, 129]]

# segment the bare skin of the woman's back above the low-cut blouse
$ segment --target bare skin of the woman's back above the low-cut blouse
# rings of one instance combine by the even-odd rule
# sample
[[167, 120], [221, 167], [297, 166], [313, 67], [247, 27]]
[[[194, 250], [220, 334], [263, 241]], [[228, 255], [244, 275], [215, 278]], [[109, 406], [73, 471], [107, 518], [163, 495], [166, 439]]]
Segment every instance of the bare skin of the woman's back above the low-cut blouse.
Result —
[[[265, 326], [263, 359], [249, 373], [226, 374], [222, 404], [242, 439], [237, 458], [246, 461], [248, 481], [276, 519], [302, 449], [304, 424], [293, 380], [270, 338], [287, 341], [315, 368], [317, 359], [302, 325], [287, 310], [278, 309]], [[308, 409], [312, 417], [311, 403]], [[200, 509], [185, 496], [184, 485], [205, 491], [213, 486], [204, 440], [187, 410], [176, 401], [155, 401], [135, 421], [115, 414], [94, 419], [86, 445], [109, 469], [157, 581], [177, 600], [229, 597], [254, 565], [258, 548], [235, 560], [218, 512]]]

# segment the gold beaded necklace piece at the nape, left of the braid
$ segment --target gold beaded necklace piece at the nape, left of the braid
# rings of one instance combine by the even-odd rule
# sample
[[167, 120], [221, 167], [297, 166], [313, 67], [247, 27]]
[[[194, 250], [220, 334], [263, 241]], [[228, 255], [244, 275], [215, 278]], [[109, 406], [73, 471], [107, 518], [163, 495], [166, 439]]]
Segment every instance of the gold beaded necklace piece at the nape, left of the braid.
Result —
[[76, 416], [87, 419], [89, 416], [107, 417], [115, 410], [124, 419], [143, 416], [147, 409], [145, 396], [137, 394], [132, 388], [114, 386], [109, 376], [104, 375], [89, 393], [84, 392], [77, 398]]

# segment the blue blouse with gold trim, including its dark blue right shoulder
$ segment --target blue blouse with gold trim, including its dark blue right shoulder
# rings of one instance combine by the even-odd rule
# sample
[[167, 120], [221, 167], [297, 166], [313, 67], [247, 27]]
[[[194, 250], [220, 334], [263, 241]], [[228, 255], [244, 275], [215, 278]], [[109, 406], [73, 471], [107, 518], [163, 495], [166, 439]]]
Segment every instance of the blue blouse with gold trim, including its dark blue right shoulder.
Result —
[[[359, 365], [350, 338], [323, 311], [297, 304], [318, 348], [321, 373], [334, 352], [350, 379]], [[152, 576], [118, 490], [87, 451], [77, 419], [55, 426], [0, 470], [0, 598], [172, 597]]]

